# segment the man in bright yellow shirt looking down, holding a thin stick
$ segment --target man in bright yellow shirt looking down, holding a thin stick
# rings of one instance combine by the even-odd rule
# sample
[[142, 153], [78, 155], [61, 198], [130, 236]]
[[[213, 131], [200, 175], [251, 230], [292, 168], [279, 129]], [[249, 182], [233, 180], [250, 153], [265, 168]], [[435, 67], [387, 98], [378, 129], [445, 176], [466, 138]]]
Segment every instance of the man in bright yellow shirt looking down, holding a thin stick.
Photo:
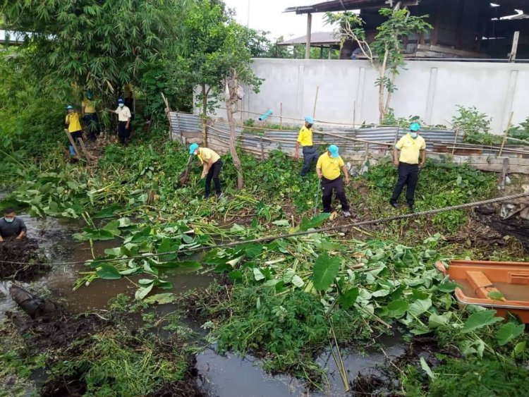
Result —
[[336, 145], [330, 145], [327, 152], [322, 154], [316, 164], [316, 173], [322, 180], [322, 203], [323, 212], [332, 212], [332, 191], [336, 190], [336, 195], [341, 202], [343, 216], [351, 216], [349, 204], [346, 197], [346, 189], [343, 185], [340, 170], [346, 177], [346, 184], [349, 184], [349, 173], [346, 164], [343, 162]]

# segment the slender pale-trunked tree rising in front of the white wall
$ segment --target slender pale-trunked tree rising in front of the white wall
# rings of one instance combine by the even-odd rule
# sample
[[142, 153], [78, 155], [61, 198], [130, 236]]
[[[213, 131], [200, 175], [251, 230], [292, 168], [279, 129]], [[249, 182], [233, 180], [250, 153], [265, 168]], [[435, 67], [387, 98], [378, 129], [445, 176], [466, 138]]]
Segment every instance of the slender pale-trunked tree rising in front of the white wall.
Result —
[[406, 65], [403, 58], [403, 37], [412, 33], [425, 32], [433, 28], [425, 21], [428, 16], [411, 16], [406, 8], [382, 8], [381, 16], [387, 18], [377, 27], [377, 34], [368, 43], [363, 29], [364, 21], [355, 13], [327, 13], [326, 21], [336, 25], [342, 43], [351, 39], [358, 44], [363, 55], [379, 73], [375, 85], [379, 89], [379, 122], [389, 111], [391, 96], [396, 91], [395, 79], [399, 69]]

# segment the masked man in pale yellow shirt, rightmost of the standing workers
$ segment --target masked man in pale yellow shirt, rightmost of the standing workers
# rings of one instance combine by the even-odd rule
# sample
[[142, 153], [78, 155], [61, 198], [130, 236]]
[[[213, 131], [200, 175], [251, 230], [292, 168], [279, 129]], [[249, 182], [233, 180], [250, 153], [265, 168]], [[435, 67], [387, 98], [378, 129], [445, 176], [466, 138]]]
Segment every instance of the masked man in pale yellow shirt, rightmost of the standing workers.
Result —
[[[419, 181], [419, 169], [425, 166], [426, 161], [426, 142], [424, 138], [419, 136], [419, 130], [420, 125], [418, 123], [411, 123], [410, 132], [404, 135], [393, 149], [393, 163], [399, 167], [399, 179], [393, 195], [389, 199], [389, 204], [399, 208], [397, 200], [404, 185], [406, 185], [406, 202], [411, 212], [413, 212], [413, 204], [415, 204], [415, 188]], [[399, 150], [401, 151], [400, 155]]]

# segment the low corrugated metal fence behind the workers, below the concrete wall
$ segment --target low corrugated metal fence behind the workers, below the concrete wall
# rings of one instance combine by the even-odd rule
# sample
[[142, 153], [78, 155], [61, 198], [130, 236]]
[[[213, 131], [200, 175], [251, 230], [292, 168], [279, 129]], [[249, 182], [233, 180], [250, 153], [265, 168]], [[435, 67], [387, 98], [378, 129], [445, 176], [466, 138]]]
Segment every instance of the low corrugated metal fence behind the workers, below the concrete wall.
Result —
[[[170, 112], [171, 137], [188, 142], [203, 143], [202, 119], [196, 114]], [[346, 161], [358, 163], [367, 159], [380, 159], [390, 153], [394, 144], [407, 130], [397, 126], [352, 128], [347, 126], [324, 126], [314, 130], [315, 145], [338, 145]], [[273, 150], [293, 155], [296, 147], [297, 130], [275, 130], [236, 126], [236, 142], [244, 152], [262, 159], [269, 157]], [[427, 129], [421, 131], [425, 138], [429, 157], [449, 156], [457, 164], [468, 163], [484, 171], [505, 171], [529, 174], [529, 151], [523, 147], [484, 147], [463, 143], [463, 134], [450, 130]], [[230, 129], [221, 120], [209, 122], [207, 146], [221, 154], [229, 152]], [[501, 157], [498, 156], [501, 152]], [[505, 161], [504, 159], [508, 159]]]

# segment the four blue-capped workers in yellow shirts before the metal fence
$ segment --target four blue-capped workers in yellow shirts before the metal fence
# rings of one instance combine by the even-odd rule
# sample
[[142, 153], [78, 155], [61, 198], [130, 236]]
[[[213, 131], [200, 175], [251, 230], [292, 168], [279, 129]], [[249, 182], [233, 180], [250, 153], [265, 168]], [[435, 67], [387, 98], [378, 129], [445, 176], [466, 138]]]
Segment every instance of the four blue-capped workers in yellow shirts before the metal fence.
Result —
[[[301, 127], [298, 139], [296, 140], [296, 149], [294, 159], [299, 159], [299, 147], [303, 151], [303, 166], [300, 176], [305, 176], [310, 171], [313, 163], [316, 163], [316, 174], [320, 179], [322, 188], [323, 212], [330, 213], [332, 209], [332, 194], [336, 196], [341, 203], [343, 216], [351, 216], [350, 207], [346, 197], [345, 185], [350, 183], [349, 171], [340, 157], [339, 147], [329, 145], [327, 152], [319, 155], [317, 148], [312, 140], [312, 126], [314, 120], [312, 117], [305, 117], [305, 123]], [[406, 186], [406, 202], [408, 209], [413, 212], [415, 204], [415, 188], [419, 179], [419, 171], [425, 165], [426, 161], [426, 143], [424, 138], [419, 135], [420, 125], [411, 123], [409, 132], [404, 135], [393, 149], [393, 162], [398, 167], [398, 180], [394, 188], [393, 195], [389, 199], [392, 207], [398, 208], [397, 200]], [[205, 198], [209, 197], [211, 192], [211, 181], [214, 181], [217, 197], [221, 197], [221, 183], [219, 173], [222, 168], [222, 160], [216, 152], [207, 147], [199, 147], [196, 143], [189, 148], [189, 154], [194, 154], [202, 163], [202, 178], [206, 178]], [[343, 177], [345, 178], [345, 185]]]

